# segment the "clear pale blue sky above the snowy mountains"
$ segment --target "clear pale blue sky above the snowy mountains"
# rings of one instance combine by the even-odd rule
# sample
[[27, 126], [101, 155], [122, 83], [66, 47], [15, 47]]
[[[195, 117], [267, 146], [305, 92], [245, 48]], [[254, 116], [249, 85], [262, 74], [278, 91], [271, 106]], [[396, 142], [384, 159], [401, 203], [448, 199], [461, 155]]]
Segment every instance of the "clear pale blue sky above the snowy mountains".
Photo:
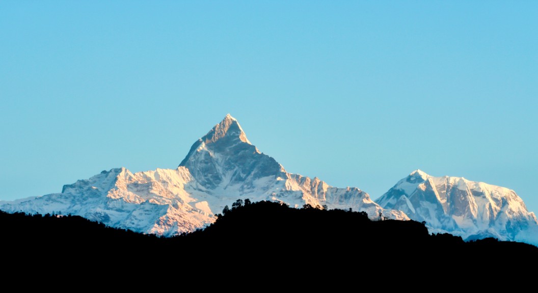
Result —
[[536, 1], [0, 1], [0, 199], [176, 168], [227, 113], [373, 199], [415, 169], [538, 212]]

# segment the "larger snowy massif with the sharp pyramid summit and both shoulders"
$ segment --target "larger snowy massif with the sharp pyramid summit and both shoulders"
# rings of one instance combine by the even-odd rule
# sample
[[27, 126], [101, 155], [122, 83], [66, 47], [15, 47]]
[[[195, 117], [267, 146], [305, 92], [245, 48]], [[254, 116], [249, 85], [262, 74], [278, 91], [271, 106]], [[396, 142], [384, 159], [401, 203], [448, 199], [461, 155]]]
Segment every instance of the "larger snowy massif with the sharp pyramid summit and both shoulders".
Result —
[[111, 227], [172, 236], [213, 223], [238, 198], [409, 219], [404, 212], [381, 208], [358, 188], [331, 187], [318, 178], [287, 173], [251, 144], [230, 115], [197, 140], [176, 169], [102, 171], [64, 185], [58, 194], [0, 202], [0, 210], [78, 215]]

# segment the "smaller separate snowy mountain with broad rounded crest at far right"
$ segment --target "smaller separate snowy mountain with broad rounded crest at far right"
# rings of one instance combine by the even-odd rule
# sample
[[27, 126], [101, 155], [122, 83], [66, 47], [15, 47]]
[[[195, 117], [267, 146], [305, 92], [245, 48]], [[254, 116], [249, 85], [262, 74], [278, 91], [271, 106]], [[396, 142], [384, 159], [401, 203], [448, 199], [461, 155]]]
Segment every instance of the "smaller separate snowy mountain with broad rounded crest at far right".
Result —
[[376, 202], [385, 209], [401, 210], [413, 220], [426, 221], [432, 233], [538, 245], [536, 216], [508, 188], [415, 170]]

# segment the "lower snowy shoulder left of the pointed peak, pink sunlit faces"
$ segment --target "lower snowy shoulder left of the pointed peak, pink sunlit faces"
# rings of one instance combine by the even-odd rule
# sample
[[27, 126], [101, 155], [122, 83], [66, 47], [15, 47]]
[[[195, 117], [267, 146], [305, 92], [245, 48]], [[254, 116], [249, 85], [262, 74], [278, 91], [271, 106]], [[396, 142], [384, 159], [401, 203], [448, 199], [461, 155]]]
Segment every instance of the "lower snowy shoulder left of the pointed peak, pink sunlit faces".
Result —
[[70, 213], [112, 227], [172, 235], [214, 220], [207, 203], [196, 201], [185, 191], [191, 180], [185, 168], [134, 174], [118, 168], [64, 185], [59, 194], [2, 202], [0, 208], [8, 212]]

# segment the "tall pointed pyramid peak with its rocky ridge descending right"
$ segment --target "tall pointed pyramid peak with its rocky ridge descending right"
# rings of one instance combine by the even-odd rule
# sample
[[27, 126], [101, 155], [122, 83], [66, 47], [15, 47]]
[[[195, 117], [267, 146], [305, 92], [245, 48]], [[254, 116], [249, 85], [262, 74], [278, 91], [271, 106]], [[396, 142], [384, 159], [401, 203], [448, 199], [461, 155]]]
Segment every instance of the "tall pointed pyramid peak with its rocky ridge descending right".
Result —
[[180, 167], [189, 169], [204, 192], [216, 196], [208, 199], [210, 206], [217, 208], [216, 212], [233, 199], [250, 198], [280, 201], [295, 207], [306, 203], [327, 205], [330, 209], [352, 208], [366, 211], [372, 218], [383, 212], [389, 218], [407, 219], [400, 211], [384, 211], [357, 188], [334, 188], [318, 178], [287, 173], [277, 161], [250, 143], [230, 115], [195, 142]]

